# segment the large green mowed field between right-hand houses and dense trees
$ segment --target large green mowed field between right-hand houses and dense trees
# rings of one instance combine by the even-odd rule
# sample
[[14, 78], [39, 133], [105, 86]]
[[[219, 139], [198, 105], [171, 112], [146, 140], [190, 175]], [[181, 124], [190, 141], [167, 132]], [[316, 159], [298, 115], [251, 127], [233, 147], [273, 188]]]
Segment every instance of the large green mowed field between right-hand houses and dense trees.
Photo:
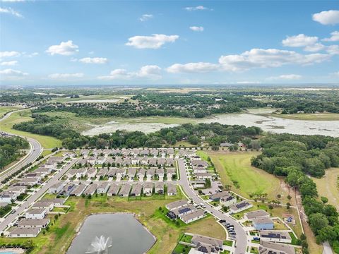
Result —
[[[267, 193], [268, 199], [273, 200], [282, 195], [285, 200], [288, 190], [280, 187], [280, 179], [268, 174], [262, 169], [251, 167], [251, 157], [260, 152], [204, 152], [212, 159], [218, 170], [223, 184], [232, 185], [232, 191], [250, 198], [252, 193]], [[239, 188], [234, 186], [237, 182]], [[287, 201], [286, 201], [287, 202]]]

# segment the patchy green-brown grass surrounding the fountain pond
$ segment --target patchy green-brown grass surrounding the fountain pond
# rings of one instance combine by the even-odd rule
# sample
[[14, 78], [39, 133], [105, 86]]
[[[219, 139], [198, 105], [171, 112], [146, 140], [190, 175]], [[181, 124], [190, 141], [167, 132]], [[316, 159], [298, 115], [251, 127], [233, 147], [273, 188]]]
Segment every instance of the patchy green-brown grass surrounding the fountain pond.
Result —
[[[32, 253], [66, 253], [73, 237], [76, 235], [76, 229], [81, 226], [85, 217], [89, 214], [100, 212], [135, 213], [138, 220], [157, 237], [157, 241], [149, 253], [171, 253], [177, 244], [179, 236], [186, 231], [225, 239], [224, 229], [215, 222], [213, 217], [207, 217], [189, 225], [177, 227], [173, 224], [168, 224], [155, 215], [158, 207], [164, 207], [168, 202], [177, 199], [153, 200], [150, 198], [149, 200], [127, 201], [125, 198], [107, 198], [107, 195], [93, 196], [92, 199], [69, 198], [66, 202], [66, 205], [71, 205], [69, 212], [61, 215], [56, 222], [52, 217], [51, 222], [53, 225], [49, 227], [49, 231], [46, 234], [40, 234], [37, 238], [33, 238], [37, 248]], [[0, 244], [22, 243], [27, 240], [28, 238], [0, 238]]]

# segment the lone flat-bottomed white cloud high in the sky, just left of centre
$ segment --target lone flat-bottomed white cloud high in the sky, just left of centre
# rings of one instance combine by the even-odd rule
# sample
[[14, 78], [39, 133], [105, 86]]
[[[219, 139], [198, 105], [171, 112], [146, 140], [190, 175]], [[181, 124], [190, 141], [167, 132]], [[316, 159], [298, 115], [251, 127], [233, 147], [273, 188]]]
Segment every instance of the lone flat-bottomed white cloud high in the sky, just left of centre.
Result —
[[152, 36], [133, 36], [129, 38], [127, 46], [136, 47], [137, 49], [159, 49], [163, 44], [167, 42], [175, 42], [179, 38], [179, 35], [158, 35]]

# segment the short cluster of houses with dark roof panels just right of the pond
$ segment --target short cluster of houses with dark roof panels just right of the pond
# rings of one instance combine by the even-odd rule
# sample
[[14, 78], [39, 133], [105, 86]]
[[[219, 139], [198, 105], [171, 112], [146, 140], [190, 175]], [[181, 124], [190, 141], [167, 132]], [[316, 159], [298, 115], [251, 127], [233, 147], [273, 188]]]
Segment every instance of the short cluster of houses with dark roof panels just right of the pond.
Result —
[[186, 200], [170, 202], [166, 205], [169, 219], [181, 219], [184, 223], [189, 224], [206, 216], [205, 212], [189, 204]]

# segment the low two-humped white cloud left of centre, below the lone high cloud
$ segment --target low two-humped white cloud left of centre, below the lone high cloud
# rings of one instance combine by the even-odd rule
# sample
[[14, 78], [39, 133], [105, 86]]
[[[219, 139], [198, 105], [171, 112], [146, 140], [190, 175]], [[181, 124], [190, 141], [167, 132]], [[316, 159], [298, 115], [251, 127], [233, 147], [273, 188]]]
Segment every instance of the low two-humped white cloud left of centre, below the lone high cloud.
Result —
[[162, 78], [161, 68], [155, 65], [142, 66], [139, 71], [129, 72], [124, 68], [118, 68], [109, 73], [97, 77], [100, 80], [130, 80], [133, 78], [148, 78], [157, 80]]

